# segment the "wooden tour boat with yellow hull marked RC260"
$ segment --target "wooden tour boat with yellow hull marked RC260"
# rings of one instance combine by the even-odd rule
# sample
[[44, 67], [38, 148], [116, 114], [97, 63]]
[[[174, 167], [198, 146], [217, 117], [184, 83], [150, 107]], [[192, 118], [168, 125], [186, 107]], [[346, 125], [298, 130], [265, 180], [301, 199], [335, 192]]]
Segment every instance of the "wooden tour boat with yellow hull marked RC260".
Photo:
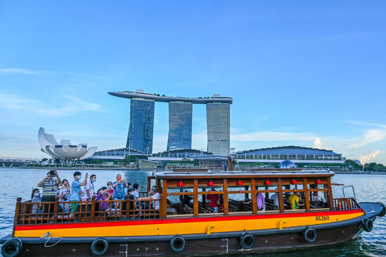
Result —
[[[43, 213], [32, 214], [36, 203], [17, 198], [13, 230], [0, 239], [1, 253], [65, 257], [276, 252], [344, 243], [371, 232], [375, 218], [386, 213], [383, 203], [333, 198], [332, 176], [329, 170], [297, 168], [233, 171], [230, 161], [229, 171], [153, 171], [147, 189], [155, 185], [160, 198], [142, 201], [153, 206], [150, 209], [144, 205], [131, 210], [130, 201], [135, 200], [93, 197], [71, 202], [78, 204], [76, 212], [59, 212], [58, 206], [66, 202], [57, 199], [45, 203]], [[113, 208], [118, 202], [126, 210]]]

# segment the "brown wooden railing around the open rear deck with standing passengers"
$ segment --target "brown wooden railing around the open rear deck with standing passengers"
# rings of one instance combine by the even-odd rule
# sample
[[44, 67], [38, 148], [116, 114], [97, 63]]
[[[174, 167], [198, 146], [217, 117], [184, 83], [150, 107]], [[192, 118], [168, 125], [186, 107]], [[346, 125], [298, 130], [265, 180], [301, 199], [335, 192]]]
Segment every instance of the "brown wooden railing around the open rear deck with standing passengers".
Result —
[[[111, 220], [137, 220], [159, 218], [159, 209], [155, 203], [162, 203], [163, 199], [141, 200], [139, 206], [137, 200], [107, 200], [97, 201], [95, 196], [91, 201], [59, 201], [56, 197], [54, 202], [21, 201], [17, 198], [15, 210], [15, 225], [59, 223], [59, 222], [86, 222], [86, 221], [111, 221]], [[134, 206], [130, 210], [130, 202]], [[32, 213], [32, 206], [37, 205], [39, 213]], [[64, 211], [68, 206], [68, 211]], [[63, 210], [59, 209], [63, 206]], [[117, 207], [120, 208], [117, 208]], [[73, 211], [71, 211], [71, 207]], [[123, 207], [123, 208], [122, 208]]]

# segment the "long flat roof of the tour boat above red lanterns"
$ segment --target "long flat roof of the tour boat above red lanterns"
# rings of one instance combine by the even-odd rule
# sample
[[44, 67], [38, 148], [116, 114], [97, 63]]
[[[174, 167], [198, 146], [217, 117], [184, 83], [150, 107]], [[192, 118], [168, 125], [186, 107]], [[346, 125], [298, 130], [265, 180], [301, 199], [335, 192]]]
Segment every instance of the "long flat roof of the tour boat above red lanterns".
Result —
[[153, 171], [156, 179], [181, 178], [256, 178], [256, 177], [332, 177], [333, 171], [302, 169], [249, 169], [244, 171], [208, 171], [207, 169], [174, 169]]

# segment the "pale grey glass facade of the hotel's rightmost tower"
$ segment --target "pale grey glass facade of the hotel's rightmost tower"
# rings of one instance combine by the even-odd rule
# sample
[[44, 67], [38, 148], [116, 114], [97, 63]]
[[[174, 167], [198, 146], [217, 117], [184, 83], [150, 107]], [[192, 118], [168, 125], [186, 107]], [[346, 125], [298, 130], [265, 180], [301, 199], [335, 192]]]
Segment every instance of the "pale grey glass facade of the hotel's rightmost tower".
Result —
[[207, 103], [208, 152], [229, 155], [230, 105]]

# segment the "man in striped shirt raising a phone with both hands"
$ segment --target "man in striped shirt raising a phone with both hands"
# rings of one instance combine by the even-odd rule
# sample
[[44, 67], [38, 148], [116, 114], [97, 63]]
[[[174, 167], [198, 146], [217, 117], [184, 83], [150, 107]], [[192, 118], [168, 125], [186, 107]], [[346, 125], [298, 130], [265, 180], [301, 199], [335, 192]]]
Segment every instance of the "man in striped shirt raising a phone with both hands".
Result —
[[[56, 196], [56, 186], [62, 182], [58, 176], [58, 171], [54, 171], [56, 179], [51, 178], [49, 175], [50, 172], [51, 171], [47, 172], [47, 176], [37, 184], [37, 186], [42, 188], [43, 191], [42, 202], [54, 202]], [[44, 213], [49, 211], [54, 212], [54, 204], [44, 205], [42, 208]]]

